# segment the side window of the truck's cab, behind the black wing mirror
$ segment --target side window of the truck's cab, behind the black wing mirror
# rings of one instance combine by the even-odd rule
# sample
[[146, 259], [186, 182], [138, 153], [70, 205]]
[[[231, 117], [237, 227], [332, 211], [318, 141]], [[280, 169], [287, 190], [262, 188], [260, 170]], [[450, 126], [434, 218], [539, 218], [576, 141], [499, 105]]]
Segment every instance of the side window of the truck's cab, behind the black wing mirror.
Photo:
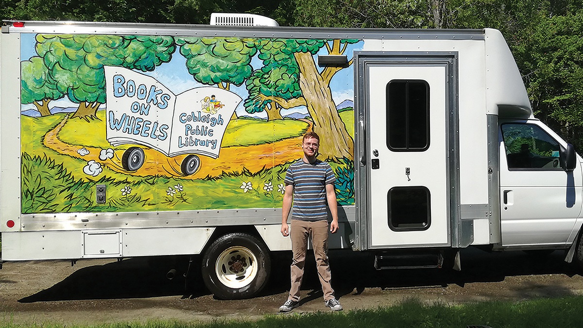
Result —
[[508, 169], [561, 170], [560, 146], [533, 124], [501, 125]]

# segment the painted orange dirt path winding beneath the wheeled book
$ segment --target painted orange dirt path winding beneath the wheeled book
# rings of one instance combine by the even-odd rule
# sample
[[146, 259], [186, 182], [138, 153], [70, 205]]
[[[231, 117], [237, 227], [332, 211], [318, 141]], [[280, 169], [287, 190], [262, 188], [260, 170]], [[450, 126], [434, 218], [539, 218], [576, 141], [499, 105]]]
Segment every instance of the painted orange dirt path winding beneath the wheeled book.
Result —
[[[180, 176], [184, 179], [194, 180], [203, 179], [205, 177], [218, 177], [223, 173], [242, 172], [244, 168], [251, 173], [257, 173], [262, 169], [270, 169], [274, 166], [291, 162], [303, 156], [300, 147], [301, 136], [275, 141], [271, 144], [222, 147], [220, 149], [219, 158], [212, 159], [207, 156], [199, 156], [201, 160], [201, 168], [194, 175], [184, 176], [180, 172], [180, 163], [187, 155], [170, 158], [154, 149], [141, 147], [146, 157], [145, 163], [140, 169], [128, 172], [127, 170], [124, 170], [121, 165], [121, 158], [125, 149], [115, 150], [114, 158], [112, 159], [101, 160], [99, 158], [101, 148], [72, 145], [63, 142], [59, 138], [59, 132], [68, 120], [69, 117], [65, 117], [61, 123], [48, 131], [47, 134], [44, 135], [43, 145], [63, 155], [83, 159], [87, 162], [89, 162], [89, 160], [95, 160], [96, 162], [101, 163], [101, 165], [107, 166], [116, 172], [134, 176]], [[307, 121], [307, 123], [309, 124], [308, 131], [310, 131], [311, 122]], [[80, 148], [87, 149], [89, 154], [85, 156], [80, 155], [77, 152]]]

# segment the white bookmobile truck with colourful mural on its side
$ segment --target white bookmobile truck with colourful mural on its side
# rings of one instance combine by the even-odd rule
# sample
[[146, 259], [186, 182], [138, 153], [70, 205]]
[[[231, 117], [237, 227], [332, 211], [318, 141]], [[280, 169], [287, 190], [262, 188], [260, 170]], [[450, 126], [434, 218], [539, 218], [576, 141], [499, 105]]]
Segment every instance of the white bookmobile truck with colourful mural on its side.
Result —
[[470, 246], [583, 261], [581, 157], [497, 30], [212, 19], [3, 23], [2, 261], [201, 254], [217, 297], [257, 295], [310, 130], [337, 177], [331, 248], [378, 269], [459, 270]]

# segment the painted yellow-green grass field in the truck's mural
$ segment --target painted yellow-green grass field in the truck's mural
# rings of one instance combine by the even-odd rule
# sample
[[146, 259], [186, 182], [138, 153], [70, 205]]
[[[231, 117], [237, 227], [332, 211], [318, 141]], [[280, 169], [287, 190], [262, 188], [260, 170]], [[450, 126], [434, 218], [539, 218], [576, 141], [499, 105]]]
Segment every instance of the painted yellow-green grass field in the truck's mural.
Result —
[[[180, 176], [137, 176], [121, 173], [107, 165], [101, 166], [97, 176], [83, 173], [88, 165], [80, 156], [67, 155], [52, 149], [43, 142], [47, 131], [61, 123], [65, 114], [47, 117], [22, 117], [22, 208], [23, 213], [40, 212], [111, 212], [111, 211], [164, 211], [209, 210], [226, 208], [276, 208], [281, 206], [283, 176], [287, 165], [298, 156], [283, 164], [243, 168], [223, 172], [205, 179], [187, 179]], [[353, 135], [353, 111], [340, 113]], [[105, 137], [104, 112], [98, 112], [100, 120], [68, 120], [57, 139], [72, 149], [84, 147], [107, 149], [111, 146]], [[269, 145], [271, 142], [300, 137], [309, 123], [301, 120], [262, 121], [238, 119], [231, 121], [223, 138], [223, 147]], [[119, 147], [121, 149], [129, 146]], [[155, 152], [150, 150], [151, 152]], [[157, 152], [156, 152], [157, 153]], [[167, 160], [157, 153], [154, 160]], [[353, 202], [352, 160], [331, 163], [340, 177], [337, 185], [339, 201]], [[253, 171], [251, 171], [251, 169]], [[344, 179], [342, 179], [344, 178]], [[108, 201], [96, 204], [96, 184], [107, 186]], [[339, 186], [339, 187], [338, 187]]]

